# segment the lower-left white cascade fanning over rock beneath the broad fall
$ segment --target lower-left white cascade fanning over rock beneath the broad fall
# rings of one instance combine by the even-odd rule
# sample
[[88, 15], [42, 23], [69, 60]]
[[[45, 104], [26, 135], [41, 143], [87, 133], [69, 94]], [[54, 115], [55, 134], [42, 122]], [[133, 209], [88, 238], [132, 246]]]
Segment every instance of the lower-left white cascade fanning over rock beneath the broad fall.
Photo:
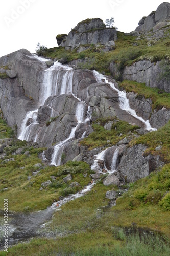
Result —
[[[38, 124], [37, 115], [38, 115], [38, 109], [29, 111], [26, 114], [25, 118], [23, 119], [22, 125], [21, 125], [20, 135], [18, 137], [19, 140], [29, 140], [29, 135], [31, 133], [32, 126], [35, 124]], [[31, 121], [31, 123], [27, 124], [29, 122], [29, 120]]]

